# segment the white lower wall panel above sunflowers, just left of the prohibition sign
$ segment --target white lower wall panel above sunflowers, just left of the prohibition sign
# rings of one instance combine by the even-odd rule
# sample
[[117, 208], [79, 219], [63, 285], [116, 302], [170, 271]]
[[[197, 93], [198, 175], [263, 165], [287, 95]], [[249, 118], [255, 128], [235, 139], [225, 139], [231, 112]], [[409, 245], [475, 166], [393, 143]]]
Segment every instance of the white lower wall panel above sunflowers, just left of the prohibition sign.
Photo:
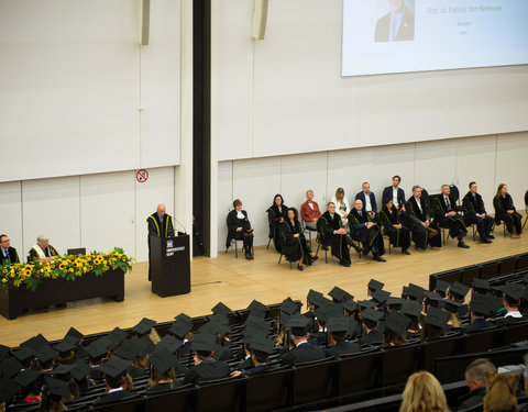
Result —
[[81, 246], [87, 252], [118, 246], [134, 255], [134, 181], [133, 170], [80, 177]]

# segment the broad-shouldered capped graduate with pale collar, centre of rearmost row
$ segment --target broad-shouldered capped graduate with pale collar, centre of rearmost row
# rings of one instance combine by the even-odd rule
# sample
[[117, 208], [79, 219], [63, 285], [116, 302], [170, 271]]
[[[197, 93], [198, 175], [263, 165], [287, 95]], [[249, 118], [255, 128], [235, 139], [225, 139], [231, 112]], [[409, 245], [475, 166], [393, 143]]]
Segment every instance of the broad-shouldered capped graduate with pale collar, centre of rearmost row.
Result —
[[280, 357], [280, 365], [296, 365], [305, 361], [324, 359], [324, 349], [308, 342], [310, 319], [301, 314], [293, 315], [287, 322], [293, 348]]

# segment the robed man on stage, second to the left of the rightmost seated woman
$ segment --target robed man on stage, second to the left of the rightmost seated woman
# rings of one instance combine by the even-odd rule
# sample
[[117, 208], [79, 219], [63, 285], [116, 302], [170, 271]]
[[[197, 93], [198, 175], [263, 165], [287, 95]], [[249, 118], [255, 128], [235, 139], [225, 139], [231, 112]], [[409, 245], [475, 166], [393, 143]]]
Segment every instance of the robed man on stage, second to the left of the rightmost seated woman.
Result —
[[455, 200], [451, 196], [451, 188], [449, 185], [442, 185], [442, 193], [435, 198], [435, 222], [438, 222], [440, 227], [449, 229], [449, 235], [459, 240], [459, 247], [469, 248], [463, 238], [468, 234], [464, 219], [454, 209]]

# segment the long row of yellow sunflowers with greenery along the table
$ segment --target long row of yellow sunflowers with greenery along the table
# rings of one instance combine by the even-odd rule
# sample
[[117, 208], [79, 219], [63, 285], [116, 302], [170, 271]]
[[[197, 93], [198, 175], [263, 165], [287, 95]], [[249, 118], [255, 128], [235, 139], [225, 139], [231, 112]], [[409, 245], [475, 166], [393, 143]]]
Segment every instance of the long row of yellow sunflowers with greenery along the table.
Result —
[[134, 260], [127, 256], [123, 249], [116, 247], [108, 253], [94, 250], [89, 255], [65, 255], [54, 260], [8, 264], [0, 266], [0, 285], [7, 289], [25, 285], [28, 289], [35, 291], [43, 279], [75, 280], [89, 271], [102, 276], [114, 269], [128, 272], [132, 270]]

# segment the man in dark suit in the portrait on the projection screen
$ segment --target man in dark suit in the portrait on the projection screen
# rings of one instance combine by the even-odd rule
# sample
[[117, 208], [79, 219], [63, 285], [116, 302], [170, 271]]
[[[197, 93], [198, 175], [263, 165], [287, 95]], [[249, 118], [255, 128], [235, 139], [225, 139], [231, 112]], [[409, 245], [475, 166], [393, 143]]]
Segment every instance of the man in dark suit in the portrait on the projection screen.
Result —
[[387, 0], [391, 11], [376, 23], [375, 42], [403, 42], [415, 38], [415, 14], [405, 0]]

